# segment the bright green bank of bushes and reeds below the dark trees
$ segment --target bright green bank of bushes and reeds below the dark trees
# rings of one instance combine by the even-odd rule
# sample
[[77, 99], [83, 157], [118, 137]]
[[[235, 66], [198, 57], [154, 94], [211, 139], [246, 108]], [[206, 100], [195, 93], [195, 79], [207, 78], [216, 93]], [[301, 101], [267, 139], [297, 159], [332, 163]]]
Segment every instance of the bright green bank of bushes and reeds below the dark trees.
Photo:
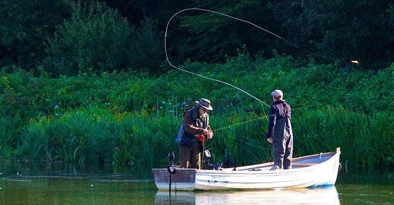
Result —
[[[341, 147], [343, 163], [392, 165], [394, 64], [377, 73], [293, 64], [291, 57], [240, 55], [223, 65], [183, 68], [231, 83], [268, 105], [270, 92], [282, 89], [292, 108], [295, 156]], [[125, 72], [50, 78], [16, 69], [3, 72], [1, 80], [2, 156], [163, 167], [167, 154], [178, 152], [174, 140], [183, 112], [207, 97], [216, 131], [206, 148], [214, 161], [233, 166], [271, 157], [265, 140], [268, 106], [180, 71], [156, 78]]]

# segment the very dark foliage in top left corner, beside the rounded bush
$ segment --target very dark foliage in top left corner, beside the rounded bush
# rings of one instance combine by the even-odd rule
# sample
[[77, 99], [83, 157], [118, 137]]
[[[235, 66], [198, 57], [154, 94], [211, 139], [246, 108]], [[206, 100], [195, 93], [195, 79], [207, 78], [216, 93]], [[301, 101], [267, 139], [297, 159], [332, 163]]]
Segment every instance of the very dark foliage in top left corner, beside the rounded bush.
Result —
[[20, 65], [26, 70], [42, 65], [45, 41], [70, 16], [62, 0], [0, 1], [0, 68]]

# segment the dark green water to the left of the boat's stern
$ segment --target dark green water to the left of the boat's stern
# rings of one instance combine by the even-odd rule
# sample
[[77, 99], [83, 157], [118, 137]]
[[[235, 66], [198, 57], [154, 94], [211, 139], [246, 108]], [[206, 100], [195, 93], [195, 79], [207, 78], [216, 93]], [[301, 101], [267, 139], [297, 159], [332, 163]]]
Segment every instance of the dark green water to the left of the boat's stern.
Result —
[[0, 204], [152, 204], [151, 178], [130, 166], [0, 159]]

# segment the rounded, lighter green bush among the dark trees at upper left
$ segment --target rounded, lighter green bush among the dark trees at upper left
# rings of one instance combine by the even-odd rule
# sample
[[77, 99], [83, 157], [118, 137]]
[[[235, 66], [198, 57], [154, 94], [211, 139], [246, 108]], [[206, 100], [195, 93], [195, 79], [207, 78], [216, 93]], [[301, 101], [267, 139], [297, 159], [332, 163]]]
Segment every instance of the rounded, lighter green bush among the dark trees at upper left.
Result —
[[47, 70], [54, 76], [73, 76], [92, 68], [97, 73], [124, 68], [131, 56], [130, 31], [127, 20], [114, 10], [93, 3], [85, 11], [76, 4], [71, 19], [58, 26], [49, 41]]

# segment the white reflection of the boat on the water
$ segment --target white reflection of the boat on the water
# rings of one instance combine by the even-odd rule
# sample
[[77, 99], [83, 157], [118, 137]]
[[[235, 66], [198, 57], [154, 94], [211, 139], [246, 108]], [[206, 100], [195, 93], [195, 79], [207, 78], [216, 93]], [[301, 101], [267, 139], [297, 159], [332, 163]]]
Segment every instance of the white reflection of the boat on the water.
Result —
[[335, 186], [224, 192], [156, 193], [155, 204], [339, 204]]

